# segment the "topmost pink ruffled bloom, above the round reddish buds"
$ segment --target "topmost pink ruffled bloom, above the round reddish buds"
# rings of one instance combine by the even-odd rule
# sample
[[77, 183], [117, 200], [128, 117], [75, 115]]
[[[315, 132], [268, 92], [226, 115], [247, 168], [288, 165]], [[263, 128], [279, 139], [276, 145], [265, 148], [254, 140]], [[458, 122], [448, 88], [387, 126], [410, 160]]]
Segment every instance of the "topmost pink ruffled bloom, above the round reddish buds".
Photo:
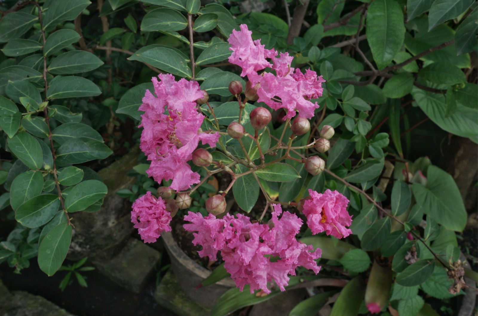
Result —
[[[280, 53], [276, 57], [277, 53], [273, 49], [264, 49], [260, 40], [252, 41], [252, 32], [247, 25], [241, 24], [240, 29], [232, 31], [229, 37], [230, 50], [234, 51], [229, 62], [242, 67], [241, 76], [247, 75], [252, 84], [261, 84], [257, 91], [259, 102], [264, 102], [274, 110], [287, 109], [286, 118], [295, 116], [296, 111], [301, 117], [312, 118], [319, 105], [310, 102], [310, 99], [322, 96], [322, 83], [325, 82], [322, 76], [317, 77], [315, 71], [310, 69], [305, 74], [298, 68], [294, 69], [291, 67], [293, 56], [289, 56], [289, 53]], [[266, 58], [272, 59], [272, 65]], [[275, 70], [276, 75], [257, 74], [257, 71], [266, 67]]]

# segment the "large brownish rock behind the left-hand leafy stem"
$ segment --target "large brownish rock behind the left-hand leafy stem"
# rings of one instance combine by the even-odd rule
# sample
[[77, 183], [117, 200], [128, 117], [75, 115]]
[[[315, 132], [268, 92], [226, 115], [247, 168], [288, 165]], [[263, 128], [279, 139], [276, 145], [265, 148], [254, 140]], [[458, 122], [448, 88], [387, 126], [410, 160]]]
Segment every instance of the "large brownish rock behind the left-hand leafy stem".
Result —
[[139, 153], [139, 147], [133, 147], [120, 160], [98, 172], [108, 187], [108, 194], [98, 212], [76, 212], [70, 215], [75, 228], [67, 259], [78, 261], [94, 256], [106, 248], [124, 244], [129, 238], [133, 232], [131, 203], [116, 195], [116, 191], [130, 188], [136, 181], [135, 177], [126, 176], [125, 172], [138, 164]]

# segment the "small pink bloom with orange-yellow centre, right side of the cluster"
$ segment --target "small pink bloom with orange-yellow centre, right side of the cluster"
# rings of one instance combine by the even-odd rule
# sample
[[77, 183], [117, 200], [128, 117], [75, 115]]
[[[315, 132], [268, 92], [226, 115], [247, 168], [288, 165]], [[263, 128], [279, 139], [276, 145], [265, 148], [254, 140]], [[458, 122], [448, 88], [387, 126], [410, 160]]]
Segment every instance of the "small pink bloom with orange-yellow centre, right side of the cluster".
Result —
[[345, 196], [328, 189], [323, 194], [309, 189], [309, 195], [304, 201], [302, 212], [307, 217], [307, 225], [313, 234], [326, 232], [327, 235], [340, 239], [352, 233], [345, 227], [352, 223]]

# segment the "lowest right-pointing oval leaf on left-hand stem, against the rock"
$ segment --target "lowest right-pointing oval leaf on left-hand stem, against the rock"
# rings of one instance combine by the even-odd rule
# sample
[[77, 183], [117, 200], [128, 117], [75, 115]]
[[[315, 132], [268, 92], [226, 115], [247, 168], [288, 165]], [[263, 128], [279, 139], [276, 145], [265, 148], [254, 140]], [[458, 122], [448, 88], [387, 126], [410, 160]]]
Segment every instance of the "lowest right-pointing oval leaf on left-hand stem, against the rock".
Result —
[[65, 199], [65, 209], [69, 213], [82, 211], [101, 199], [106, 193], [108, 193], [108, 188], [101, 181], [80, 182], [68, 193]]

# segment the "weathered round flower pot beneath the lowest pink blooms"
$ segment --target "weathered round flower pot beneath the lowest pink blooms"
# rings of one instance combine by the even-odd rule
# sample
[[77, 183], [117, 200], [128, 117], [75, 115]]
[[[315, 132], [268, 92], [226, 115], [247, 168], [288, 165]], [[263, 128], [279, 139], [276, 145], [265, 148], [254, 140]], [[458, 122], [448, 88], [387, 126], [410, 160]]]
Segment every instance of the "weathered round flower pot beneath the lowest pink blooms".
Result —
[[212, 308], [224, 292], [236, 286], [231, 278], [226, 278], [215, 284], [196, 289], [196, 286], [209, 276], [211, 272], [189, 258], [174, 241], [171, 232], [163, 232], [161, 237], [163, 237], [164, 245], [171, 259], [177, 282], [185, 294], [196, 303]]

